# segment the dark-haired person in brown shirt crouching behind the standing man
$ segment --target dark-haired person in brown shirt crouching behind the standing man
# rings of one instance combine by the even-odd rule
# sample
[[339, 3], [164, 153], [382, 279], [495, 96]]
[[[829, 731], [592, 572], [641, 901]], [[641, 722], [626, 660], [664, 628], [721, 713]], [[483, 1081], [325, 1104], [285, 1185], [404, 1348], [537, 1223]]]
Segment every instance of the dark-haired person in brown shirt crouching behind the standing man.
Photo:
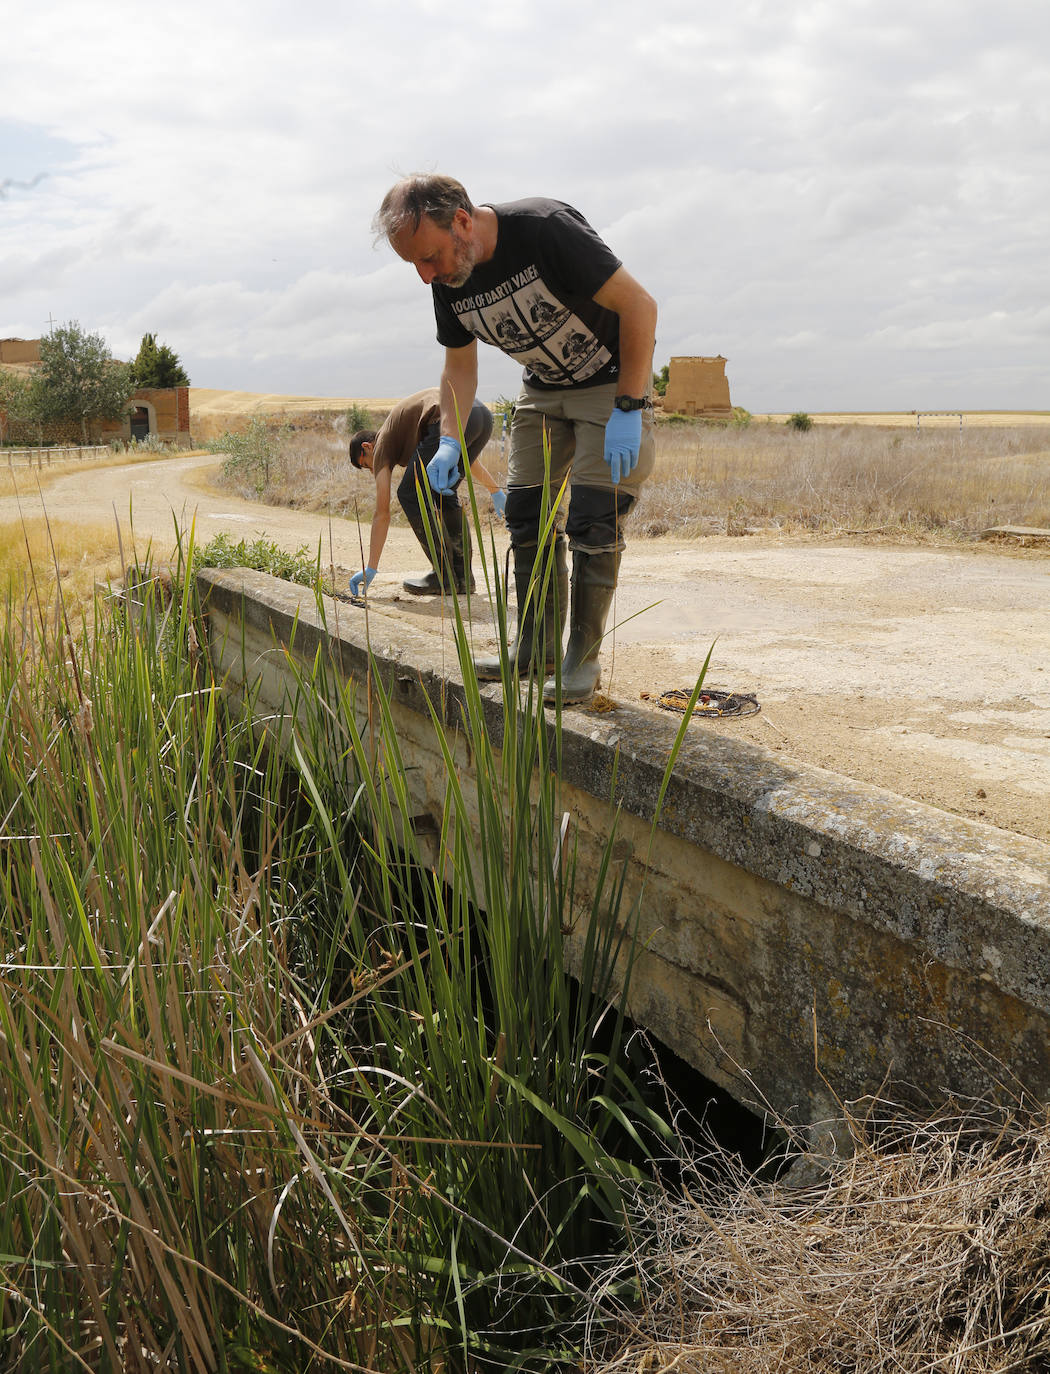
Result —
[[[506, 496], [480, 456], [492, 436], [492, 411], [474, 401], [463, 423], [463, 444], [471, 477], [492, 496], [496, 515], [503, 515]], [[375, 513], [368, 536], [368, 563], [350, 577], [350, 595], [359, 596], [371, 585], [390, 529], [390, 488], [394, 469], [404, 469], [397, 485], [397, 500], [419, 540], [430, 570], [407, 577], [401, 584], [412, 596], [462, 595], [474, 589], [470, 566], [470, 528], [463, 518], [458, 489], [463, 481], [462, 466], [455, 482], [443, 492], [432, 492], [433, 519], [427, 540], [427, 517], [422, 500], [429, 486], [426, 464], [441, 440], [441, 407], [437, 387], [416, 392], [399, 401], [378, 431], [357, 430], [350, 437], [350, 463], [367, 469], [375, 478]], [[437, 555], [432, 555], [433, 550]]]

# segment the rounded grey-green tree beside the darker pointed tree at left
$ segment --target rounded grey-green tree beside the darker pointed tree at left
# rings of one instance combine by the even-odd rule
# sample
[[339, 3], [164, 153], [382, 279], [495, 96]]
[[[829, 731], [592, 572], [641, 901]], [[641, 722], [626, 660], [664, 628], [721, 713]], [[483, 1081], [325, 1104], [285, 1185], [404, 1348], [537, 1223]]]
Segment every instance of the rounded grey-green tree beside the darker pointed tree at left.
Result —
[[78, 420], [88, 442], [89, 420], [120, 420], [135, 390], [131, 364], [117, 363], [100, 334], [85, 334], [76, 320], [40, 341], [40, 371], [32, 392], [41, 420]]

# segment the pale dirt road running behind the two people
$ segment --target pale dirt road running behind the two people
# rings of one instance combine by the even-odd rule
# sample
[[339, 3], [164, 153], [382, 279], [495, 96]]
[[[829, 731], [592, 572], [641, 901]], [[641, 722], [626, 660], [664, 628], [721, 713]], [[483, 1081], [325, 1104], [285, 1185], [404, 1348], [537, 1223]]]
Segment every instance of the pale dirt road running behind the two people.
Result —
[[[320, 537], [326, 562], [360, 566], [367, 528], [216, 495], [216, 464], [188, 456], [96, 469], [44, 495], [54, 517], [118, 518], [125, 529], [131, 502], [136, 533], [151, 534], [158, 551], [170, 547], [173, 515], [183, 526], [195, 515], [202, 541], [219, 530], [265, 533], [315, 550]], [[30, 506], [23, 497], [26, 514]], [[0, 502], [0, 519], [16, 518], [14, 503]], [[502, 554], [502, 529], [498, 544]], [[411, 533], [393, 529], [372, 610], [432, 627], [440, 654], [449, 635], [440, 605], [401, 594], [401, 576], [422, 566]], [[761, 712], [691, 730], [1050, 840], [1050, 550], [635, 539], [614, 618], [603, 655], [612, 701], [690, 687], [713, 644], [708, 684], [755, 692]], [[491, 647], [481, 596], [471, 627], [478, 649]]]

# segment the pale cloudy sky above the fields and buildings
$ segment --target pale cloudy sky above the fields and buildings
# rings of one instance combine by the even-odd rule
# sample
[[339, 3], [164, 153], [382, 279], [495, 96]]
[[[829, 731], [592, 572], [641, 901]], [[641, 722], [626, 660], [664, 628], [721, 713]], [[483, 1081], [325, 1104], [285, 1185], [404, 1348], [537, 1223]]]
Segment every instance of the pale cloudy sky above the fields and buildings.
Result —
[[[752, 411], [1050, 408], [1046, 0], [0, 0], [0, 337], [399, 396], [403, 173], [580, 209]], [[517, 370], [481, 350], [481, 394]]]

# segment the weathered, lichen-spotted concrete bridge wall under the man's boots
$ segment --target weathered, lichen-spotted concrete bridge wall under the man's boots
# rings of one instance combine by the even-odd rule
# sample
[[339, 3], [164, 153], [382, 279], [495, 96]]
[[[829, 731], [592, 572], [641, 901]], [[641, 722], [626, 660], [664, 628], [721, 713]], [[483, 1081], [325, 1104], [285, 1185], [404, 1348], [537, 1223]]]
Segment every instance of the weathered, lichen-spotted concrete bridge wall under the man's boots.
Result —
[[[463, 690], [448, 639], [366, 636], [360, 610], [261, 573], [201, 574], [212, 654], [232, 690], [294, 698], [284, 650], [378, 676], [412, 758], [418, 815], [440, 820]], [[375, 629], [372, 618], [371, 628]], [[506, 712], [484, 688], [499, 747]], [[896, 797], [697, 723], [660, 796], [678, 720], [620, 706], [562, 717], [563, 804], [580, 877], [616, 826], [643, 948], [632, 1014], [741, 1101], [803, 1120], [836, 1096], [1050, 1096], [1050, 846]], [[458, 769], [470, 754], [459, 736]], [[596, 879], [595, 879], [596, 881]]]

